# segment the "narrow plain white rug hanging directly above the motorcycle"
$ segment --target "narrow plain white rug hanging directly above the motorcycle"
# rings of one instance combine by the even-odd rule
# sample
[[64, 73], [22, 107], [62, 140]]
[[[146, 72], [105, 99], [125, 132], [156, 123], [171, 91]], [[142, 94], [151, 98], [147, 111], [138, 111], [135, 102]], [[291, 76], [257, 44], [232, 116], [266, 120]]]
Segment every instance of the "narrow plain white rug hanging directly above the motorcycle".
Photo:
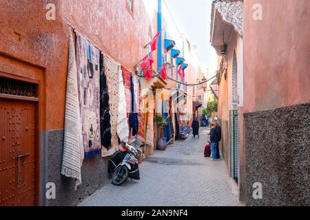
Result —
[[129, 127], [127, 123], [127, 104], [121, 66], [118, 71], [118, 100], [117, 135], [121, 141], [127, 142]]

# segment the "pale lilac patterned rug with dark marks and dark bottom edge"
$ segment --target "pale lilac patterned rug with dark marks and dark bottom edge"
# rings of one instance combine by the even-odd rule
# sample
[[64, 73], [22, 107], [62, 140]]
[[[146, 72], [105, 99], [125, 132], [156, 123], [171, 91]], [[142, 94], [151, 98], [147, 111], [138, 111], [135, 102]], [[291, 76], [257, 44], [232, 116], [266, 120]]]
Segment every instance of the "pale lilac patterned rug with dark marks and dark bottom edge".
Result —
[[77, 34], [76, 69], [85, 157], [101, 153], [99, 54], [96, 47]]

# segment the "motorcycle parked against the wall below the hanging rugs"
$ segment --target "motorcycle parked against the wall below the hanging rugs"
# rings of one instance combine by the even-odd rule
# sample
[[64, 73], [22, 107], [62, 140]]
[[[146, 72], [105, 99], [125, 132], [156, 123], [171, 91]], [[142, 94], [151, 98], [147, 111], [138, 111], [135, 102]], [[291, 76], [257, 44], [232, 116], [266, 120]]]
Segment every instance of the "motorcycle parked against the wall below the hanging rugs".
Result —
[[141, 156], [140, 146], [138, 149], [134, 146], [121, 142], [120, 151], [109, 159], [107, 169], [112, 174], [112, 184], [120, 186], [127, 178], [140, 179], [138, 168], [138, 157]]

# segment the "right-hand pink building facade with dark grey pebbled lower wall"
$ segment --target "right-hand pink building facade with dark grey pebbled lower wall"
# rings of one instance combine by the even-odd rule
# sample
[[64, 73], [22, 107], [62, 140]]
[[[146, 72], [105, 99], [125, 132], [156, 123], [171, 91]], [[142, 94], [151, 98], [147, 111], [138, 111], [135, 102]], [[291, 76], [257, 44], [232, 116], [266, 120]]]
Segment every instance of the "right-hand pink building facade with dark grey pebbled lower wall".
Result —
[[309, 205], [309, 6], [213, 3], [220, 148], [249, 206]]

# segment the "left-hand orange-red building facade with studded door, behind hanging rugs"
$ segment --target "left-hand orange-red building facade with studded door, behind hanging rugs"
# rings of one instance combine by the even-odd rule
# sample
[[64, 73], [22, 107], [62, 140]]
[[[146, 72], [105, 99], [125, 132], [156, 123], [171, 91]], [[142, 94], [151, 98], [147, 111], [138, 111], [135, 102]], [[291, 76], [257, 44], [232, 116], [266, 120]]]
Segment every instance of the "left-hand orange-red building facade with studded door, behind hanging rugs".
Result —
[[[158, 32], [162, 31], [153, 56], [155, 71], [161, 69], [166, 52], [171, 53], [174, 46], [183, 46], [182, 39], [176, 39], [173, 47], [167, 45], [176, 35], [169, 32], [161, 0], [10, 1], [2, 2], [0, 6], [3, 8], [0, 15], [3, 21], [0, 24], [3, 33], [0, 43], [1, 117], [8, 115], [1, 118], [1, 127], [8, 128], [8, 131], [1, 130], [5, 133], [1, 142], [1, 148], [5, 146], [1, 158], [10, 161], [10, 164], [0, 164], [2, 168], [10, 169], [10, 172], [1, 173], [6, 175], [1, 176], [1, 181], [6, 181], [1, 184], [8, 186], [12, 195], [17, 192], [12, 186], [15, 181], [13, 168], [19, 165], [11, 161], [10, 155], [17, 154], [16, 158], [24, 164], [29, 163], [29, 168], [18, 173], [16, 180], [20, 190], [23, 190], [23, 185], [29, 187], [17, 198], [23, 204], [10, 197], [3, 205], [74, 206], [105, 184], [110, 184], [110, 178], [107, 174], [108, 159], [101, 155], [83, 160], [83, 181], [77, 190], [74, 190], [74, 179], [61, 175], [70, 36], [80, 34], [132, 73], [136, 72], [136, 64], [149, 52], [149, 47], [145, 46]], [[167, 50], [167, 47], [171, 48]], [[179, 54], [181, 52], [170, 54], [175, 56], [172, 63], [176, 63]], [[177, 68], [177, 65], [172, 68], [174, 78], [178, 75]], [[167, 82], [156, 76], [152, 82], [144, 84], [141, 79], [143, 85], [147, 92], [154, 93], [156, 89], [166, 87]], [[170, 86], [176, 87], [176, 83]], [[24, 124], [19, 128], [21, 123]], [[154, 129], [154, 145], [146, 146], [145, 155], [154, 152], [156, 135]], [[23, 148], [26, 142], [30, 148]], [[21, 184], [20, 179], [30, 181]], [[56, 199], [45, 197], [49, 183], [56, 187]]]

